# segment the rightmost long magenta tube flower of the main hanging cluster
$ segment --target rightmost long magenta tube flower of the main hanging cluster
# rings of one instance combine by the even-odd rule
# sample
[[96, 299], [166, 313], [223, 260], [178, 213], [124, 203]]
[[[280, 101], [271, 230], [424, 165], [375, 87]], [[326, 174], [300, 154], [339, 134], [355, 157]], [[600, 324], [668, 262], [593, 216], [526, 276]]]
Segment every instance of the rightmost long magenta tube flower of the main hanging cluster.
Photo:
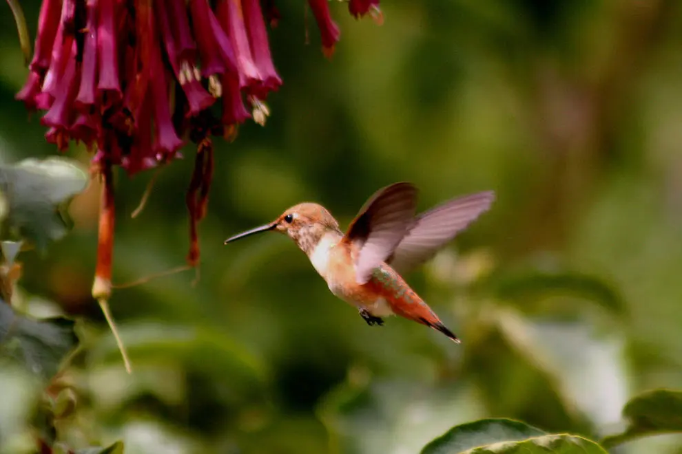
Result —
[[267, 42], [267, 30], [265, 30], [263, 13], [260, 10], [260, 0], [243, 0], [242, 6], [254, 63], [262, 78], [260, 87], [253, 94], [258, 98], [265, 99], [269, 91], [274, 91], [282, 85], [282, 79], [280, 79], [272, 63], [270, 46]]

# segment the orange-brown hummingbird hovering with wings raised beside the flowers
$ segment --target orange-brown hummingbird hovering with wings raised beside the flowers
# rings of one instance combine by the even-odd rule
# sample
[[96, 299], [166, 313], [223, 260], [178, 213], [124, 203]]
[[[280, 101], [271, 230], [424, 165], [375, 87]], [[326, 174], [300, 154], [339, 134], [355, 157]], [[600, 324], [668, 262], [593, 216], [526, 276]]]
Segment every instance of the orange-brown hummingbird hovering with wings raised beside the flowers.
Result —
[[460, 343], [402, 274], [431, 259], [494, 199], [493, 191], [465, 195], [415, 215], [417, 188], [399, 182], [376, 191], [346, 233], [326, 208], [304, 202], [269, 224], [229, 237], [225, 244], [271, 230], [283, 233], [305, 252], [331, 293], [357, 307], [368, 325], [381, 326], [384, 317], [397, 315]]

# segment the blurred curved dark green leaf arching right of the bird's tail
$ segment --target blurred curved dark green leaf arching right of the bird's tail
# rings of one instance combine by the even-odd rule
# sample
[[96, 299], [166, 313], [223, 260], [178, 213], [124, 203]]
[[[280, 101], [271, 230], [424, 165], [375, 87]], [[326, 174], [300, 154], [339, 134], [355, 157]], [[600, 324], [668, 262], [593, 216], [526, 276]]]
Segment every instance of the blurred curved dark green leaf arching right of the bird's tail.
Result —
[[616, 314], [625, 312], [621, 294], [593, 275], [532, 270], [514, 272], [496, 280], [494, 290], [499, 299], [522, 301], [526, 307], [552, 296], [576, 296], [595, 301]]

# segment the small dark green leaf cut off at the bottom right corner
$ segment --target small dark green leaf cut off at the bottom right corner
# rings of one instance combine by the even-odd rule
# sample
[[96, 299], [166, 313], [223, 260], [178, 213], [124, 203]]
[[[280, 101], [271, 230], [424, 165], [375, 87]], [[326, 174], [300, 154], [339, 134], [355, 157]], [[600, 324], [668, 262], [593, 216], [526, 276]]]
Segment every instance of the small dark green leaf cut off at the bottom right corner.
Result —
[[623, 409], [628, 429], [602, 440], [606, 447], [639, 437], [682, 432], [682, 391], [654, 389], [641, 393]]

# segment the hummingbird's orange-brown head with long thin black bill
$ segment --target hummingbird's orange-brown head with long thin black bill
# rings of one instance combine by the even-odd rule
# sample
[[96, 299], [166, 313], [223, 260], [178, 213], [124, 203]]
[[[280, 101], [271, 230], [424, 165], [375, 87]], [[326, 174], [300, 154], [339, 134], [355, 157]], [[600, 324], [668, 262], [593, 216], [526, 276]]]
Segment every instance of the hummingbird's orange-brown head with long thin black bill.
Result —
[[285, 210], [277, 219], [265, 226], [260, 226], [239, 233], [225, 240], [225, 244], [256, 233], [276, 230], [284, 233], [304, 252], [309, 253], [318, 244], [320, 238], [329, 230], [339, 230], [339, 224], [324, 206], [304, 202]]

